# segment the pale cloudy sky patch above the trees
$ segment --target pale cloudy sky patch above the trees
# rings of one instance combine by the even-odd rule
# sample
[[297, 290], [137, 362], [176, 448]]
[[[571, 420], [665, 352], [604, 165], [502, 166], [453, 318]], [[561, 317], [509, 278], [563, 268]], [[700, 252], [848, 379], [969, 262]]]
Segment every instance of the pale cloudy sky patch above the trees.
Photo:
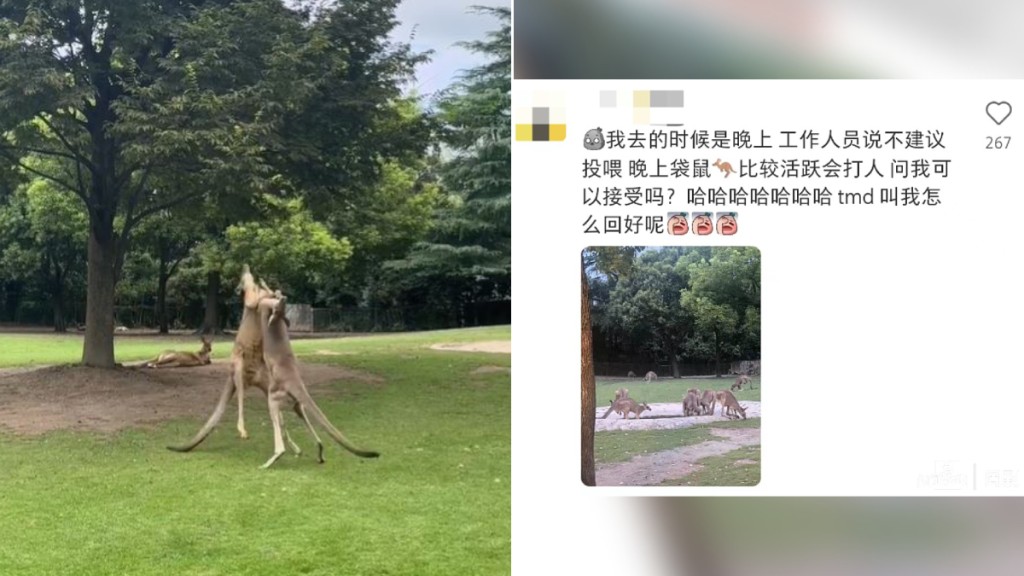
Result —
[[481, 64], [478, 54], [455, 46], [456, 42], [481, 39], [500, 26], [498, 18], [471, 11], [473, 5], [509, 7], [511, 0], [403, 0], [398, 5], [396, 15], [401, 24], [394, 39], [410, 42], [413, 27], [419, 25], [410, 44], [416, 51], [434, 51], [431, 60], [417, 71], [420, 94], [430, 95], [451, 84], [459, 71]]

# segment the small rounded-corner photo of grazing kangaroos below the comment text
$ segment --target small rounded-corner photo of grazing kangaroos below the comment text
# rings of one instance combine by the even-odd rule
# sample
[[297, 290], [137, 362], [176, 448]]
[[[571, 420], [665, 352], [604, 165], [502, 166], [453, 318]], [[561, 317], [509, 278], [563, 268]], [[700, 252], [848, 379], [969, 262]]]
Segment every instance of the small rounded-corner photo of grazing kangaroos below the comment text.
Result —
[[590, 247], [583, 266], [585, 484], [756, 486], [760, 250]]

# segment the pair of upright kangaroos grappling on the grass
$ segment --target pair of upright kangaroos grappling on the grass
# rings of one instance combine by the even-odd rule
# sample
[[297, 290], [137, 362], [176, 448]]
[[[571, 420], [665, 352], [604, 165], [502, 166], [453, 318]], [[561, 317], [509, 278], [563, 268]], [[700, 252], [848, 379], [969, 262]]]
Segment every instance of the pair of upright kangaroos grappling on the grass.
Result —
[[249, 438], [245, 425], [243, 399], [245, 390], [259, 388], [267, 398], [270, 424], [273, 428], [273, 453], [261, 467], [268, 468], [285, 453], [285, 442], [295, 452], [302, 453], [285, 427], [284, 411], [290, 408], [305, 424], [316, 442], [317, 460], [324, 463], [324, 443], [309, 420], [309, 416], [324, 427], [328, 435], [349, 452], [362, 458], [376, 458], [379, 452], [364, 450], [349, 442], [336, 428], [309, 396], [298, 361], [292, 351], [286, 316], [287, 297], [280, 290], [270, 290], [262, 281], [257, 284], [249, 266], [243, 269], [239, 289], [243, 292], [242, 321], [231, 351], [231, 368], [221, 389], [213, 413], [196, 436], [182, 446], [168, 446], [169, 450], [188, 452], [200, 445], [213, 431], [224, 415], [227, 403], [238, 396], [238, 431], [242, 439]]

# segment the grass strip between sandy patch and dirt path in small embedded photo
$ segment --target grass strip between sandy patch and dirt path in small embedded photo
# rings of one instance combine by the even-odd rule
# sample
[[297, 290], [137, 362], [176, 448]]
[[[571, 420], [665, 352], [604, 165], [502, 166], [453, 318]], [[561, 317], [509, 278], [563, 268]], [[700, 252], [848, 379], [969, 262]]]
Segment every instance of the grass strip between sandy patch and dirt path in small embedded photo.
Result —
[[760, 426], [761, 418], [750, 418], [674, 429], [601, 430], [594, 435], [594, 460], [597, 464], [625, 462], [634, 456], [715, 440], [711, 428], [757, 428]]

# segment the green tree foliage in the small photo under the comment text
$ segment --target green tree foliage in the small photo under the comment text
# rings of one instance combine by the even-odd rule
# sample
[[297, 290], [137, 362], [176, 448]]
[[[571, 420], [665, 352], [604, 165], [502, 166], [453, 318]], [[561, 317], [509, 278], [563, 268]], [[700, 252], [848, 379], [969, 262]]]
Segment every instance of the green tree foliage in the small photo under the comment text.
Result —
[[584, 263], [598, 349], [673, 364], [760, 358], [756, 248], [605, 247]]

